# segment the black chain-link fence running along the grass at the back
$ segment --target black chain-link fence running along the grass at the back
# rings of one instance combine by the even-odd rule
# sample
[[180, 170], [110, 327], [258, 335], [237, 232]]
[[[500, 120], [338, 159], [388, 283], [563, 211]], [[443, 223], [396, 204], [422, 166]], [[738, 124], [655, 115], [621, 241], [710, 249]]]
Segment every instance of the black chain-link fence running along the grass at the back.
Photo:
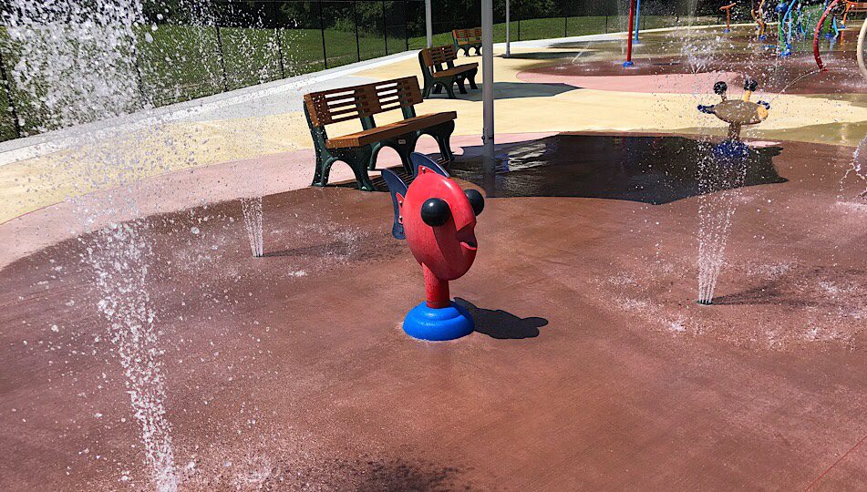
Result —
[[[716, 21], [724, 2], [644, 0], [642, 28], [680, 15]], [[514, 41], [625, 30], [626, 0], [512, 0]], [[142, 108], [294, 77], [426, 45], [423, 0], [159, 0], [146, 4], [134, 46]], [[6, 18], [4, 15], [3, 18]], [[478, 0], [433, 0], [434, 44], [481, 24]], [[505, 0], [494, 1], [505, 41]], [[0, 141], [38, 133], [39, 117], [10, 70], [20, 52], [0, 27]]]

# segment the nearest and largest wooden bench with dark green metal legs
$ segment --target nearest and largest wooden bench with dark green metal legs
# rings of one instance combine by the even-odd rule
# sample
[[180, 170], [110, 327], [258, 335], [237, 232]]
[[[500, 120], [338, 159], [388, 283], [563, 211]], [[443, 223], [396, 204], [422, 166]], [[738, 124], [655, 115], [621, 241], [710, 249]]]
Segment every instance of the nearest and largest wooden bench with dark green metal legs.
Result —
[[[454, 159], [449, 138], [458, 114], [448, 111], [418, 116], [415, 105], [423, 101], [416, 77], [305, 94], [304, 116], [316, 150], [314, 186], [327, 185], [331, 165], [343, 160], [355, 173], [359, 190], [376, 191], [367, 171], [376, 169], [379, 150], [384, 147], [397, 150], [404, 169], [411, 173], [409, 154], [422, 135], [437, 140], [441, 162]], [[374, 115], [397, 109], [403, 117], [400, 121], [377, 127]], [[328, 137], [327, 125], [356, 118], [361, 122], [361, 131]]]

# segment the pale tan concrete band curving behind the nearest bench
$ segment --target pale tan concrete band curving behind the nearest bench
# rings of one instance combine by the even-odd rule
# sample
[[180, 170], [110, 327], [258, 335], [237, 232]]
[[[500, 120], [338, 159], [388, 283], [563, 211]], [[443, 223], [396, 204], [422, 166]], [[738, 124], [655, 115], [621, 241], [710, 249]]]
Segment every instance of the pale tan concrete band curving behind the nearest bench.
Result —
[[[637, 56], [675, 52], [682, 44], [670, 33], [645, 36]], [[699, 36], [706, 39], [708, 34]], [[672, 40], [674, 39], [675, 42]], [[702, 46], [712, 46], [704, 41]], [[727, 47], [742, 51], [744, 43]], [[715, 48], [716, 49], [716, 48]], [[545, 56], [532, 56], [544, 52]], [[573, 48], [520, 48], [511, 58], [495, 58], [497, 89], [496, 131], [537, 133], [559, 131], [650, 131], [722, 135], [725, 124], [696, 111], [697, 104], [716, 100], [713, 94], [660, 94], [570, 88], [552, 93], [550, 87], [521, 82], [518, 74], [535, 67], [563, 63]], [[562, 53], [563, 57], [553, 57]], [[620, 56], [616, 43], [583, 48], [575, 63]], [[499, 54], [499, 53], [498, 53]], [[531, 56], [527, 56], [531, 54]], [[459, 61], [463, 61], [460, 58]], [[480, 57], [468, 58], [481, 62]], [[358, 73], [361, 77], [387, 79], [418, 74], [418, 61], [400, 60]], [[544, 89], [544, 90], [542, 90]], [[708, 88], [708, 93], [710, 92]], [[856, 146], [867, 133], [867, 105], [861, 95], [773, 96], [771, 117], [747, 137], [787, 139]], [[419, 114], [454, 110], [459, 114], [455, 134], [480, 135], [480, 91], [458, 100], [435, 98], [418, 107]], [[377, 117], [380, 123], [399, 118], [399, 112]], [[329, 128], [333, 134], [357, 130], [356, 122]], [[232, 118], [206, 122], [173, 122], [120, 137], [82, 141], [71, 149], [0, 166], [0, 223], [32, 210], [106, 190], [166, 172], [240, 159], [311, 149], [304, 116], [300, 111], [257, 118]], [[310, 166], [312, 176], [313, 165]], [[305, 186], [310, 177], [297, 180]]]

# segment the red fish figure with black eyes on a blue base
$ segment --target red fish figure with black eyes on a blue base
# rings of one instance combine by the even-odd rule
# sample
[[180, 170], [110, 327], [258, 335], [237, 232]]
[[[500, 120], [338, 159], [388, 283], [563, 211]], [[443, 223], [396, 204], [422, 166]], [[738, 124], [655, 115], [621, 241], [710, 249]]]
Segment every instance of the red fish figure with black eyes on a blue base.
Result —
[[472, 333], [470, 313], [449, 297], [449, 281], [470, 270], [476, 259], [476, 216], [485, 207], [477, 190], [461, 190], [446, 169], [428, 157], [410, 155], [414, 179], [407, 183], [382, 171], [394, 205], [391, 233], [406, 239], [421, 264], [427, 300], [404, 318], [403, 330], [420, 340], [454, 340]]

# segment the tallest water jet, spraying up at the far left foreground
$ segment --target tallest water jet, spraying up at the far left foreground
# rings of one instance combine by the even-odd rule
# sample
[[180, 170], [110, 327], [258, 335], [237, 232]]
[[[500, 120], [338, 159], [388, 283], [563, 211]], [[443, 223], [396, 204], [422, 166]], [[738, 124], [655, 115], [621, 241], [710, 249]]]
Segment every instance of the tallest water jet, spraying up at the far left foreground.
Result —
[[[42, 132], [149, 106], [140, 91], [139, 67], [130, 56], [143, 22], [139, 0], [13, 0], [4, 17], [9, 37], [20, 49], [11, 75], [16, 88], [32, 101], [29, 111], [19, 115], [22, 127]], [[87, 246], [82, 261], [97, 287], [96, 308], [108, 322], [150, 480], [155, 489], [171, 492], [178, 478], [165, 415], [160, 329], [149, 294], [151, 240], [143, 221], [112, 219], [137, 216], [129, 183], [160, 162], [126, 154], [132, 142], [126, 144], [79, 135], [77, 149], [59, 158], [54, 171], [71, 175], [78, 196], [72, 202], [86, 230], [109, 223], [79, 239]], [[101, 199], [85, 197], [92, 190], [119, 186], [121, 190]]]

